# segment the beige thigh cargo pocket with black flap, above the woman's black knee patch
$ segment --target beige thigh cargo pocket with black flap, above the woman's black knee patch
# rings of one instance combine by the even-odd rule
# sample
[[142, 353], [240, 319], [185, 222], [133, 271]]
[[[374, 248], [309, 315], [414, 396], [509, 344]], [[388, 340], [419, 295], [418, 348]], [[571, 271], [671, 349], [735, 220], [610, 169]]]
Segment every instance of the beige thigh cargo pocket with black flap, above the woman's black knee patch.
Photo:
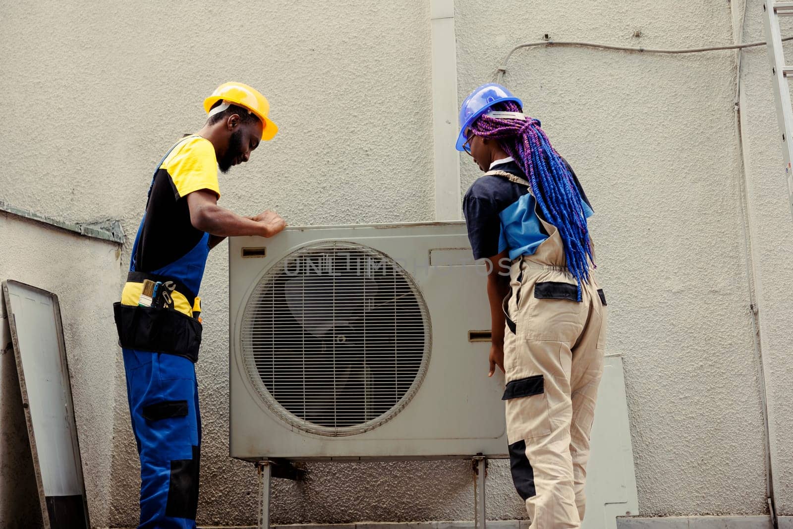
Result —
[[509, 381], [502, 401], [507, 401], [508, 431], [520, 432], [520, 439], [550, 434], [545, 377], [541, 374]]

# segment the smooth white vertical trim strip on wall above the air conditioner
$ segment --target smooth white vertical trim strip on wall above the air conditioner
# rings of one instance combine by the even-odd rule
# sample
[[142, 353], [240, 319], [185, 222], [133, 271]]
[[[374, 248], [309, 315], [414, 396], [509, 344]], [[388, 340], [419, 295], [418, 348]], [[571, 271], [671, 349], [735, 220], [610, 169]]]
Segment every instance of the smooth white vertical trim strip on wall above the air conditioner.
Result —
[[432, 138], [435, 220], [462, 219], [457, 141], [457, 40], [454, 0], [431, 0]]

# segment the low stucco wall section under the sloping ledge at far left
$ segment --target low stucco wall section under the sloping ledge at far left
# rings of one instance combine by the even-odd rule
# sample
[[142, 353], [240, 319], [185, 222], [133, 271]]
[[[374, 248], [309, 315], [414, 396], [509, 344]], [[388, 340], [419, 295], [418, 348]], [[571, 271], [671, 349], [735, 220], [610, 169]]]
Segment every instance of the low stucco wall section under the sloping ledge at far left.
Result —
[[[108, 307], [120, 288], [120, 267], [117, 244], [0, 213], [0, 279], [28, 283], [58, 296], [86, 494], [92, 523], [100, 527], [107, 519], [113, 489], [110, 466], [118, 339]], [[29, 492], [25, 476], [6, 485]], [[33, 503], [32, 511], [25, 512], [36, 514], [36, 496], [24, 501]], [[16, 507], [18, 511], [20, 506]], [[33, 521], [35, 517], [14, 526], [6, 520], [2, 527], [33, 527]]]

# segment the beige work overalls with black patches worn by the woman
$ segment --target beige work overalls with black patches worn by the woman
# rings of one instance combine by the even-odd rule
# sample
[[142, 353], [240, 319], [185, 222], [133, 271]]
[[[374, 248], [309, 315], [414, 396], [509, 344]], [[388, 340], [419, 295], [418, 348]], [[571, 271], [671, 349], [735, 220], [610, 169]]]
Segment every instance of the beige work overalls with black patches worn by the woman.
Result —
[[[529, 186], [523, 178], [490, 171]], [[531, 192], [531, 189], [530, 189]], [[512, 479], [531, 529], [580, 527], [589, 433], [603, 374], [606, 300], [593, 270], [581, 286], [565, 266], [557, 228], [511, 263], [504, 332], [504, 401]]]

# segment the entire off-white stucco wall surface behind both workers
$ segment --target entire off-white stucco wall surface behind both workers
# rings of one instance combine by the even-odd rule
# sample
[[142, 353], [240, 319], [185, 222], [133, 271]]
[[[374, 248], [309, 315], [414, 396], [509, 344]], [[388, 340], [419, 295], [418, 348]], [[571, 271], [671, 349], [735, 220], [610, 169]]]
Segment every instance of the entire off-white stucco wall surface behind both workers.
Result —
[[[760, 40], [759, 0], [748, 7], [745, 40]], [[508, 0], [497, 9], [457, 0], [459, 98], [493, 79], [509, 48], [544, 33], [653, 48], [731, 44], [735, 11], [716, 0]], [[179, 136], [200, 128], [202, 99], [229, 79], [270, 98], [281, 132], [251, 163], [221, 176], [221, 205], [247, 214], [276, 209], [293, 225], [433, 216], [426, 2], [345, 0], [318, 9], [305, 0], [213, 8], [0, 0], [0, 13], [0, 90], [10, 102], [0, 128], [0, 199], [65, 220], [120, 218], [130, 237], [112, 277], [102, 278], [113, 288], [128, 264], [155, 163]], [[766, 63], [763, 48], [745, 52], [742, 117], [761, 345], [773, 374], [777, 492], [780, 513], [793, 514], [785, 286], [793, 233]], [[611, 307], [609, 347], [625, 362], [642, 514], [765, 512], [734, 53], [524, 50], [511, 59], [504, 82], [542, 121], [596, 209], [591, 226]], [[464, 191], [477, 171], [467, 156], [461, 162]], [[71, 251], [83, 251], [80, 244]], [[199, 521], [249, 524], [255, 472], [230, 460], [227, 448], [226, 259], [225, 244], [213, 251], [201, 292]], [[97, 317], [112, 321], [109, 303], [102, 306]], [[87, 316], [81, 321], [69, 332], [93, 332]], [[112, 328], [105, 331], [112, 341]], [[96, 447], [82, 444], [86, 480], [94, 480], [92, 520], [131, 526], [138, 466], [120, 355], [114, 342], [108, 347], [90, 376], [106, 369], [114, 383], [75, 386], [75, 405], [81, 442], [82, 435], [98, 436]], [[86, 422], [105, 417], [98, 409], [106, 413], [109, 401], [112, 421]], [[94, 468], [107, 468], [110, 450], [107, 477]], [[305, 483], [276, 482], [274, 522], [472, 515], [466, 462], [312, 470]], [[492, 518], [524, 516], [504, 462], [492, 465], [488, 481]]]

